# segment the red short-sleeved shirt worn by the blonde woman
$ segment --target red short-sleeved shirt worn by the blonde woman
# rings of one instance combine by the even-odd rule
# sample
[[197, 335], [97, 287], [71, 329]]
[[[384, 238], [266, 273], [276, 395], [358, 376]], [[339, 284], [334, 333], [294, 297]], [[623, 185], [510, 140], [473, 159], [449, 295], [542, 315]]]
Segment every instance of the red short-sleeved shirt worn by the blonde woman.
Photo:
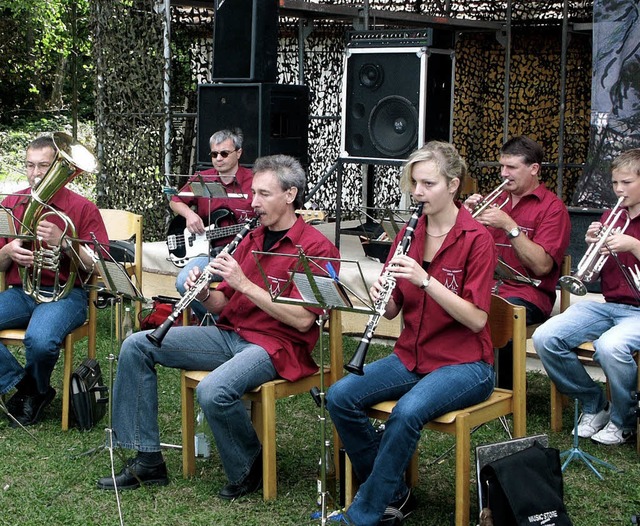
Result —
[[[396, 236], [389, 259], [405, 229]], [[408, 254], [421, 264], [425, 237], [426, 216], [422, 216]], [[495, 265], [496, 250], [491, 234], [461, 207], [428, 272], [432, 280], [438, 280], [461, 298], [489, 312]], [[488, 324], [474, 333], [453, 319], [427, 292], [405, 279], [397, 280], [392, 297], [402, 307], [404, 316], [404, 328], [393, 352], [408, 370], [426, 374], [445, 365], [479, 360], [493, 363]]]

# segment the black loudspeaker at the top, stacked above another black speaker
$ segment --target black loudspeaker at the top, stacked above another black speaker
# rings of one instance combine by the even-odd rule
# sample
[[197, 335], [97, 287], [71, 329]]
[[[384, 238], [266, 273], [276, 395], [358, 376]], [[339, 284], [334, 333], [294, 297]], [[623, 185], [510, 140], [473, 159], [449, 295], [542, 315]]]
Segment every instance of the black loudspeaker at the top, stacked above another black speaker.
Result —
[[278, 0], [216, 0], [213, 79], [275, 82]]

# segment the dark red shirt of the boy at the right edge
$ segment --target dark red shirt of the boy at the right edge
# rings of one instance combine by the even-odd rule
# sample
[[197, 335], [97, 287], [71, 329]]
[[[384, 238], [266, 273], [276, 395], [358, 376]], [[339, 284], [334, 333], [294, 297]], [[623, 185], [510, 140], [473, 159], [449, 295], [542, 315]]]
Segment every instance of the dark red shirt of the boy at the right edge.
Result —
[[[600, 222], [604, 223], [609, 215], [611, 215], [611, 210], [607, 210], [604, 214], [602, 214]], [[622, 217], [616, 222], [616, 226], [624, 226], [626, 217], [627, 216], [623, 214]], [[628, 236], [633, 236], [636, 239], [640, 239], [640, 216], [635, 217], [629, 222], [629, 225], [627, 226], [627, 229], [624, 231], [624, 233]], [[638, 268], [640, 268], [640, 261], [638, 261], [631, 252], [619, 252], [617, 254], [617, 259], [621, 265], [624, 265], [627, 268], [632, 268], [634, 269], [634, 271], [636, 265], [638, 265]], [[616, 258], [614, 258], [613, 256], [609, 256], [606, 263], [602, 267], [602, 271], [600, 272], [602, 295], [607, 302], [625, 303], [627, 305], [638, 306], [639, 302], [637, 296], [639, 294], [639, 291], [635, 290], [634, 292], [634, 290], [631, 289], [626, 279], [624, 278], [620, 267], [618, 266], [618, 262], [616, 262]]]

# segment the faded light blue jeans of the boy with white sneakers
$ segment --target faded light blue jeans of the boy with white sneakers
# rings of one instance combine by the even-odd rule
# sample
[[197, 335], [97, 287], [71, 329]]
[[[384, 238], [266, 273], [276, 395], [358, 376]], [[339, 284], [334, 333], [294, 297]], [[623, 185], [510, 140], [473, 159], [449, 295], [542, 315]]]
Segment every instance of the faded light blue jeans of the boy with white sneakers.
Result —
[[577, 398], [583, 412], [591, 414], [604, 409], [606, 399], [572, 349], [593, 341], [594, 359], [611, 390], [611, 421], [624, 431], [636, 427], [632, 394], [637, 387], [633, 353], [640, 350], [638, 324], [640, 307], [581, 301], [552, 316], [533, 334], [533, 345], [549, 378], [561, 393]]

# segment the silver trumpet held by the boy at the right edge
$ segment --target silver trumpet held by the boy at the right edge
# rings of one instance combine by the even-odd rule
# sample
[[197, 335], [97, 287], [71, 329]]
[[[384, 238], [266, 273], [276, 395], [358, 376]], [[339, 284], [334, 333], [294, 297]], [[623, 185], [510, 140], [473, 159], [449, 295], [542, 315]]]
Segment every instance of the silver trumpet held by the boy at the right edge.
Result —
[[[562, 276], [558, 280], [564, 290], [576, 296], [584, 296], [587, 293], [587, 287], [585, 287], [583, 282], [589, 283], [593, 281], [612, 254], [611, 251], [609, 251], [609, 254], [600, 253], [603, 247], [607, 247], [607, 238], [611, 234], [624, 232], [631, 222], [628, 212], [624, 208], [620, 208], [623, 200], [624, 196], [618, 198], [616, 206], [613, 207], [611, 214], [609, 214], [607, 220], [598, 231], [598, 240], [589, 245], [584, 256], [582, 256], [582, 259], [578, 263], [575, 274], [573, 276]], [[626, 217], [625, 224], [622, 227], [616, 227], [616, 224], [623, 215]]]

